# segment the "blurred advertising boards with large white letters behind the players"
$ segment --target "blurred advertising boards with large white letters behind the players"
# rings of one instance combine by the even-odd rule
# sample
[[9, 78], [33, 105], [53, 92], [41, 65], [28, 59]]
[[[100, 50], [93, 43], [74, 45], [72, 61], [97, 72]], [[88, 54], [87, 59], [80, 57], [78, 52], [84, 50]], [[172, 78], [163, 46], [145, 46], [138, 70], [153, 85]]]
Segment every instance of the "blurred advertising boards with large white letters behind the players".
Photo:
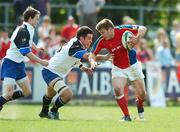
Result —
[[[37, 65], [26, 68], [32, 86], [32, 95], [20, 101], [41, 102], [46, 91], [41, 69], [42, 67]], [[152, 106], [166, 106], [166, 98], [180, 97], [180, 79], [177, 68], [162, 70], [159, 63], [148, 62], [145, 69], [146, 87]], [[75, 68], [68, 74], [65, 82], [72, 89], [74, 99], [114, 99], [110, 68], [96, 68], [91, 76]], [[134, 97], [134, 92], [131, 89], [129, 90], [129, 96]], [[0, 93], [2, 93], [1, 82]]]

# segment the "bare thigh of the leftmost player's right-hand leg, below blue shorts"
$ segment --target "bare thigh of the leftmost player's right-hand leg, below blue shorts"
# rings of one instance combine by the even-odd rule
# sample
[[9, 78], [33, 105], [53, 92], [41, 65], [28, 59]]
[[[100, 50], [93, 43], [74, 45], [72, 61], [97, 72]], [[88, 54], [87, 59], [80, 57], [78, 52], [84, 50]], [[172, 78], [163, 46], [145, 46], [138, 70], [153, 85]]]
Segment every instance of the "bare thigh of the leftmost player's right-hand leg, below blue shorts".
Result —
[[31, 85], [27, 76], [17, 80], [17, 84], [22, 89], [24, 96], [31, 94]]

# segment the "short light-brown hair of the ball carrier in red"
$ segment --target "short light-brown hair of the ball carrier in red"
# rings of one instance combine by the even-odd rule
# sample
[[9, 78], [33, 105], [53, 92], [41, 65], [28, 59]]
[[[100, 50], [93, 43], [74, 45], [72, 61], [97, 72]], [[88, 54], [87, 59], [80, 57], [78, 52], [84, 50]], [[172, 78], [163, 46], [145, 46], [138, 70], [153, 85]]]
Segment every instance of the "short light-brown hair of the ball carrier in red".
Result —
[[106, 19], [106, 18], [98, 22], [98, 24], [96, 25], [97, 31], [102, 30], [102, 29], [108, 30], [109, 28], [114, 28], [114, 24], [112, 23], [111, 20]]

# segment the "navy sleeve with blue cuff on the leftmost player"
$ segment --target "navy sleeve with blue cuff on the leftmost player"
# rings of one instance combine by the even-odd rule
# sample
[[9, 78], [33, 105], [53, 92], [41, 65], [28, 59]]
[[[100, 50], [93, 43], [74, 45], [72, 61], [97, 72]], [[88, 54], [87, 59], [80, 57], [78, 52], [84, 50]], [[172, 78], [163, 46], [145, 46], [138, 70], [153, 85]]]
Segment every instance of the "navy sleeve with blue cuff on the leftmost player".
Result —
[[28, 30], [26, 28], [20, 28], [14, 39], [14, 43], [22, 55], [26, 55], [31, 52], [29, 41], [30, 41], [30, 34]]

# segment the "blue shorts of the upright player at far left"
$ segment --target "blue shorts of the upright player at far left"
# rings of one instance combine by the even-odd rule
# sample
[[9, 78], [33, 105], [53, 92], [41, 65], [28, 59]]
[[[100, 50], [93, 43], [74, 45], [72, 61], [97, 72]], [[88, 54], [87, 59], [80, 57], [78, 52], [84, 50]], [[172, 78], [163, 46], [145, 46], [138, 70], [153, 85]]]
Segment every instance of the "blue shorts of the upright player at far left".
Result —
[[26, 77], [24, 62], [17, 63], [10, 59], [5, 58], [1, 66], [1, 80], [5, 77], [20, 80]]

